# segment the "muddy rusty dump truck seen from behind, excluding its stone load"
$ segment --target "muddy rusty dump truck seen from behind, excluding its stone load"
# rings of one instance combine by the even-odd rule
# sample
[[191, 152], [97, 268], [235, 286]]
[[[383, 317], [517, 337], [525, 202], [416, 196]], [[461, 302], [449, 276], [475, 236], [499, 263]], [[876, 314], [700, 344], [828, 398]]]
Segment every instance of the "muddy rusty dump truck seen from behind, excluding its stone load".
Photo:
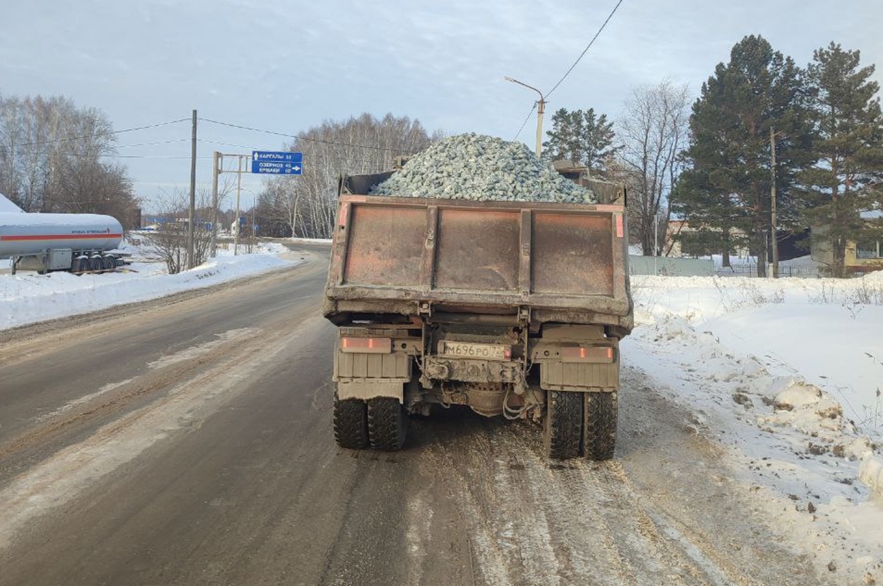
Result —
[[542, 424], [551, 458], [612, 458], [624, 187], [575, 177], [597, 204], [369, 195], [395, 172], [338, 184], [322, 310], [337, 444], [397, 450], [410, 415], [465, 405]]

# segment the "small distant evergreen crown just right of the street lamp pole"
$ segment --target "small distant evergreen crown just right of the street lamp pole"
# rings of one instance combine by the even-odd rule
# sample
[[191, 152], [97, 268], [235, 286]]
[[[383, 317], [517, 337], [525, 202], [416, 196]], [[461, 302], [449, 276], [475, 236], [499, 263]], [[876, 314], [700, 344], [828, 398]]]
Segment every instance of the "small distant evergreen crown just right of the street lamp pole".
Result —
[[543, 153], [551, 161], [567, 159], [584, 164], [593, 175], [603, 176], [604, 162], [614, 154], [613, 123], [595, 110], [558, 109], [552, 116], [552, 130], [546, 132]]

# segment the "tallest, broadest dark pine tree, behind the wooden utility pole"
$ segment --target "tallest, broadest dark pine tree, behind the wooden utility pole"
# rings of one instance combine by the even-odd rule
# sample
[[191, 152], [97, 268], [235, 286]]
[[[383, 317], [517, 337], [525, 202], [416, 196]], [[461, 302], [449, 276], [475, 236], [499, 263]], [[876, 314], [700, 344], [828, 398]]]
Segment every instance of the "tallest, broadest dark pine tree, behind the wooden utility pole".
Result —
[[790, 187], [806, 164], [808, 140], [802, 96], [801, 71], [793, 59], [751, 35], [736, 43], [728, 64], [718, 64], [693, 104], [686, 153], [691, 169], [682, 174], [673, 209], [693, 229], [748, 244], [758, 255], [761, 276], [771, 231], [770, 130], [776, 137], [779, 219], [795, 222], [798, 202]]

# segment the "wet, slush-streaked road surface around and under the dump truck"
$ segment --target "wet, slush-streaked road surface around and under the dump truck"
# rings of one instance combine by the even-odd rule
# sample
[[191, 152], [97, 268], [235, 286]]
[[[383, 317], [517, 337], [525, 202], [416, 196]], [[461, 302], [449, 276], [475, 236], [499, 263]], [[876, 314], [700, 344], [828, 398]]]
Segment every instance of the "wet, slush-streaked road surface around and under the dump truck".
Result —
[[618, 460], [439, 409], [331, 432], [311, 262], [0, 337], [0, 584], [813, 584], [687, 414], [623, 372]]

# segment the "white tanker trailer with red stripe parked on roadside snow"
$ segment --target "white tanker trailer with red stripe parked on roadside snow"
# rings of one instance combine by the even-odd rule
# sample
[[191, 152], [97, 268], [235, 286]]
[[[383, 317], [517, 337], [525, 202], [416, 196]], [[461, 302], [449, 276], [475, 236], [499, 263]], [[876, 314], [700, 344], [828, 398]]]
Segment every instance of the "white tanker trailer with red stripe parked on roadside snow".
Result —
[[123, 262], [112, 252], [122, 239], [109, 215], [0, 213], [0, 259], [12, 259], [12, 274], [113, 270]]

